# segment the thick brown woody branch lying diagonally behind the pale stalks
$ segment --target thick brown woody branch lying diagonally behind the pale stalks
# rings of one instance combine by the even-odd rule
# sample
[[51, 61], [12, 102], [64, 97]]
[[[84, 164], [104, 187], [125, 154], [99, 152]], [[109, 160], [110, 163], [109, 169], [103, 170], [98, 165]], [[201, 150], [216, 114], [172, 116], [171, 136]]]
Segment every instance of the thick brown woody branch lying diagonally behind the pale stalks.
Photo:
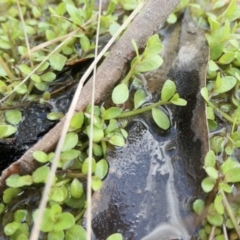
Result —
[[[134, 19], [123, 36], [112, 48], [108, 57], [104, 60], [97, 71], [96, 103], [109, 96], [109, 93], [124, 74], [127, 64], [134, 57], [134, 49], [131, 40], [142, 48], [149, 36], [163, 27], [168, 15], [174, 10], [180, 0], [149, 0], [141, 13]], [[92, 79], [83, 88], [76, 111], [82, 111], [91, 101]], [[29, 174], [38, 163], [33, 161], [33, 152], [41, 150], [50, 152], [54, 150], [60, 137], [65, 118], [51, 129], [38, 143], [30, 148], [18, 161], [2, 172], [0, 178], [0, 190], [5, 188], [5, 180], [11, 174]]]

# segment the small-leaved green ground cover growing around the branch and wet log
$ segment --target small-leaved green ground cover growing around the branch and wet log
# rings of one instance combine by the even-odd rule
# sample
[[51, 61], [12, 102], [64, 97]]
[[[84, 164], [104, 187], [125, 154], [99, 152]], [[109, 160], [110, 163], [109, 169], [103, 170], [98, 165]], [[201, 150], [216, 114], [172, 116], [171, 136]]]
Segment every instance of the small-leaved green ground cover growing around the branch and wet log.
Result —
[[[92, 38], [97, 25], [93, 1], [47, 3], [46, 0], [38, 0], [32, 6], [28, 1], [22, 1], [24, 24], [21, 17], [18, 18], [19, 10], [15, 1], [2, 3], [8, 15], [0, 17], [0, 94], [5, 100], [0, 110], [1, 138], [8, 138], [17, 131], [22, 119], [17, 107], [19, 102], [46, 103], [51, 98], [48, 86], [56, 79], [56, 73], [68, 62], [93, 56], [95, 46]], [[117, 10], [122, 9], [124, 19], [127, 11], [134, 9], [137, 4], [138, 1], [111, 1], [101, 16], [101, 35], [104, 36], [106, 32], [113, 34], [121, 24]], [[198, 25], [206, 30], [210, 46], [207, 86], [201, 90], [207, 103], [209, 129], [216, 131], [223, 123], [227, 125], [220, 134], [214, 133], [210, 139], [211, 150], [204, 161], [207, 177], [202, 181], [206, 200], [198, 199], [193, 204], [194, 211], [202, 220], [199, 236], [201, 239], [238, 239], [239, 199], [235, 195], [240, 182], [240, 164], [236, 157], [236, 150], [240, 147], [240, 35], [237, 21], [240, 7], [236, 0], [230, 3], [205, 0], [200, 4], [185, 0], [169, 16], [168, 23], [176, 22], [178, 12], [186, 6], [190, 7]], [[30, 50], [28, 45], [35, 45], [36, 42], [39, 45]], [[76, 43], [77, 48], [74, 47]], [[112, 92], [115, 105], [110, 108], [89, 105], [85, 112], [76, 113], [71, 120], [41, 226], [47, 239], [85, 238], [86, 232], [81, 224], [87, 207], [85, 188], [88, 165], [91, 162], [92, 189], [96, 191], [108, 172], [108, 146], [123, 146], [126, 142], [126, 117], [151, 111], [156, 124], [166, 130], [170, 127], [170, 121], [160, 106], [186, 105], [171, 80], [163, 85], [158, 102], [144, 105], [148, 97], [140, 75], [161, 66], [163, 59], [159, 53], [162, 45], [158, 35], [149, 38], [141, 54], [134, 40], [132, 44], [136, 57], [125, 78]], [[130, 90], [130, 86], [135, 86], [134, 90]], [[134, 94], [133, 109], [125, 110], [122, 106], [131, 94]], [[89, 159], [92, 108], [93, 159]], [[39, 168], [31, 175], [12, 175], [7, 179], [8, 188], [2, 196], [0, 213], [5, 216], [4, 233], [9, 239], [28, 239], [37, 211], [19, 208], [12, 212], [11, 217], [6, 217], [7, 210], [11, 209], [12, 203], [23, 191], [43, 188], [53, 157], [54, 153], [36, 151], [34, 158], [41, 163]], [[108, 238], [118, 239], [122, 239], [120, 234]]]

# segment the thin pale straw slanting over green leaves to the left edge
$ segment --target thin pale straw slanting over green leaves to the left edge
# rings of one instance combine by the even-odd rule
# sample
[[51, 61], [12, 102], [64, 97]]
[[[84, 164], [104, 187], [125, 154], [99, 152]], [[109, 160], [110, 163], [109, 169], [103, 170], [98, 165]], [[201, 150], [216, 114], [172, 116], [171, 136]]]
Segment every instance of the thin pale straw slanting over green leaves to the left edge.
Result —
[[11, 93], [7, 94], [4, 98], [0, 100], [0, 103], [2, 103], [4, 100], [6, 100], [11, 94], [13, 94], [21, 85], [23, 85], [31, 76], [34, 74], [42, 65], [45, 63], [52, 55], [55, 53], [58, 49], [60, 49], [72, 36], [74, 36], [76, 32], [72, 32], [71, 35], [68, 36], [67, 39], [65, 39], [61, 44], [59, 44], [51, 53], [49, 53], [41, 63], [37, 67], [35, 67], [22, 81], [19, 83]]

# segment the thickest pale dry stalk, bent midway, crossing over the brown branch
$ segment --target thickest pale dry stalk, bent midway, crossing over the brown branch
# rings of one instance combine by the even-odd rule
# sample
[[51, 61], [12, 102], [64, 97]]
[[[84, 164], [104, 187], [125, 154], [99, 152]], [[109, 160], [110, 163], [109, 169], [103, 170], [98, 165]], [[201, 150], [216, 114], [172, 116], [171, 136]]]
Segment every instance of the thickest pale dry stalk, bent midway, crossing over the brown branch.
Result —
[[127, 18], [127, 20], [122, 24], [122, 26], [118, 29], [118, 31], [115, 33], [115, 35], [110, 39], [110, 41], [108, 42], [108, 44], [103, 48], [103, 50], [100, 52], [100, 54], [97, 56], [97, 58], [93, 61], [93, 63], [90, 65], [90, 67], [87, 69], [87, 71], [84, 73], [84, 75], [82, 76], [79, 85], [76, 89], [76, 92], [74, 94], [71, 106], [69, 108], [69, 111], [66, 115], [66, 121], [64, 122], [63, 125], [63, 129], [62, 129], [62, 134], [61, 137], [59, 139], [59, 142], [57, 144], [57, 148], [55, 151], [55, 156], [52, 162], [52, 166], [51, 166], [51, 170], [48, 176], [48, 180], [46, 182], [46, 185], [44, 187], [43, 190], [43, 194], [42, 194], [42, 198], [41, 198], [41, 202], [39, 205], [39, 212], [37, 215], [37, 219], [33, 225], [33, 229], [30, 235], [30, 240], [37, 240], [38, 236], [39, 236], [39, 232], [40, 232], [40, 226], [42, 224], [42, 218], [43, 218], [43, 211], [46, 208], [47, 205], [47, 200], [48, 200], [48, 195], [53, 183], [53, 179], [55, 176], [55, 172], [57, 170], [57, 165], [58, 165], [58, 161], [60, 158], [60, 154], [61, 154], [61, 149], [64, 143], [64, 139], [65, 136], [67, 134], [68, 131], [68, 127], [71, 121], [71, 118], [74, 114], [74, 110], [75, 110], [75, 106], [78, 102], [78, 98], [79, 95], [81, 93], [82, 87], [83, 87], [83, 83], [86, 81], [86, 79], [88, 78], [88, 76], [90, 75], [90, 73], [92, 72], [94, 66], [98, 63], [98, 61], [102, 58], [102, 56], [104, 55], [104, 53], [108, 50], [108, 48], [112, 45], [112, 43], [117, 39], [117, 37], [119, 36], [119, 34], [128, 26], [128, 24], [134, 19], [134, 17], [137, 15], [137, 13], [142, 9], [142, 7], [145, 5], [145, 1], [142, 1], [138, 7], [131, 13], [131, 15]]

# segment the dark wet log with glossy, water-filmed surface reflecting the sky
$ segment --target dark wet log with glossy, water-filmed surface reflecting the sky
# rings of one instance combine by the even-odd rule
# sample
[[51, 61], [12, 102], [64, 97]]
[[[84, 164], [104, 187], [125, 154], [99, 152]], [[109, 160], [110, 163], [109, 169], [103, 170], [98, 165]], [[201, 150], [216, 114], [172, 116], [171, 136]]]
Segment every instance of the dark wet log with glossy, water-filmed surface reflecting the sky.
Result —
[[116, 232], [124, 239], [190, 239], [195, 227], [191, 200], [203, 194], [202, 165], [209, 149], [200, 95], [208, 55], [204, 32], [188, 14], [164, 32], [165, 64], [146, 79], [152, 89], [153, 83], [156, 89], [173, 79], [188, 103], [167, 108], [172, 122], [167, 131], [157, 128], [149, 114], [130, 121], [126, 146], [108, 153], [109, 174], [92, 198], [97, 240]]

